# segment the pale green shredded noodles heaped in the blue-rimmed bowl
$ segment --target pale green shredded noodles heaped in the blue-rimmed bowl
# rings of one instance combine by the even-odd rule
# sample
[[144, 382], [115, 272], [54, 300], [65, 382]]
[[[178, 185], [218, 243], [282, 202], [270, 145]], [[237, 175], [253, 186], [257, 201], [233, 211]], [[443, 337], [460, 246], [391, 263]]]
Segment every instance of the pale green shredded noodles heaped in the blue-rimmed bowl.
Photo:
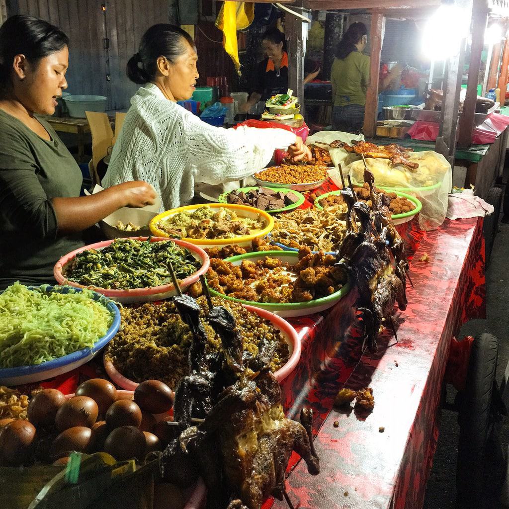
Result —
[[0, 368], [40, 364], [92, 348], [112, 323], [84, 290], [62, 294], [16, 282], [0, 294]]

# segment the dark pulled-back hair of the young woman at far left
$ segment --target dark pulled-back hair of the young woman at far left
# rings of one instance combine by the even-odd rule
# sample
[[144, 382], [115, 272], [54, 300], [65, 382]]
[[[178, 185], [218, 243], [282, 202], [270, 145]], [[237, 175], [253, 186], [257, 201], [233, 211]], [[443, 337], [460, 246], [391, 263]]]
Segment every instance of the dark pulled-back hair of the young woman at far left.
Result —
[[10, 80], [9, 68], [18, 54], [37, 65], [45, 56], [69, 46], [69, 38], [58, 27], [25, 14], [16, 14], [0, 26], [0, 86]]

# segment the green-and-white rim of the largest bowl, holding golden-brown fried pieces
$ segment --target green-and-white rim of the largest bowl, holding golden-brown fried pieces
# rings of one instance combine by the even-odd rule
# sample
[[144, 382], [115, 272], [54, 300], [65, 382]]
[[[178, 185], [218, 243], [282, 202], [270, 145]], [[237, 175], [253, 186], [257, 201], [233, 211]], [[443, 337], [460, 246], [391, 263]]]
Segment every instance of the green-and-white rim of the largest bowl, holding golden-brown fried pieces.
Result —
[[[266, 256], [271, 258], [277, 258], [282, 262], [289, 262], [291, 264], [296, 264], [299, 261], [299, 253], [294, 251], [259, 251], [246, 254], [239, 254], [238, 256], [225, 259], [225, 262], [231, 262], [234, 265], [240, 265], [242, 263], [242, 260], [256, 261]], [[344, 285], [343, 288], [341, 288], [337, 292], [334, 292], [331, 295], [327, 295], [326, 297], [320, 297], [319, 299], [313, 299], [307, 302], [289, 302], [284, 304], [273, 302], [255, 302], [252, 300], [236, 299], [235, 297], [223, 295], [222, 293], [217, 292], [211, 287], [209, 287], [209, 290], [210, 293], [216, 297], [234, 300], [236, 302], [240, 302], [242, 304], [247, 304], [250, 306], [261, 307], [262, 309], [266, 309], [267, 311], [274, 313], [274, 315], [278, 315], [283, 318], [292, 318], [313, 315], [314, 313], [319, 313], [320, 311], [332, 307], [337, 301], [339, 301], [344, 295], [346, 295], [349, 292], [350, 282], [347, 282], [347, 284]]]

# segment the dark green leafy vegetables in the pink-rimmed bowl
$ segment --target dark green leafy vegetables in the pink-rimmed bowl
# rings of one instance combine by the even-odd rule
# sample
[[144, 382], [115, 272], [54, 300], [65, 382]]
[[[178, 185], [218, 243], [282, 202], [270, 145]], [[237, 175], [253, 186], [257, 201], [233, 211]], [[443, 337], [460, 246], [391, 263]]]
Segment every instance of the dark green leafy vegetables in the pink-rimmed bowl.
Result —
[[87, 249], [65, 267], [69, 281], [108, 290], [130, 290], [172, 282], [169, 265], [184, 279], [199, 268], [192, 254], [171, 241], [115, 239], [103, 249]]

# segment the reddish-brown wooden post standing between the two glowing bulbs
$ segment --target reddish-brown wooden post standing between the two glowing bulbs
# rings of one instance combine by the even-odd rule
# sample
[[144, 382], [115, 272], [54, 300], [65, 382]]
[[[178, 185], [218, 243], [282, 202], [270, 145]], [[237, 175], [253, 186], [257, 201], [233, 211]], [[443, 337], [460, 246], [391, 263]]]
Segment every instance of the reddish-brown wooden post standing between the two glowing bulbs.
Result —
[[481, 53], [484, 46], [484, 32], [488, 21], [488, 6], [484, 2], [475, 2], [472, 12], [472, 44], [470, 47], [470, 64], [468, 67], [467, 95], [463, 104], [460, 121], [458, 145], [466, 148], [472, 141], [475, 105], [477, 102], [477, 84]]

